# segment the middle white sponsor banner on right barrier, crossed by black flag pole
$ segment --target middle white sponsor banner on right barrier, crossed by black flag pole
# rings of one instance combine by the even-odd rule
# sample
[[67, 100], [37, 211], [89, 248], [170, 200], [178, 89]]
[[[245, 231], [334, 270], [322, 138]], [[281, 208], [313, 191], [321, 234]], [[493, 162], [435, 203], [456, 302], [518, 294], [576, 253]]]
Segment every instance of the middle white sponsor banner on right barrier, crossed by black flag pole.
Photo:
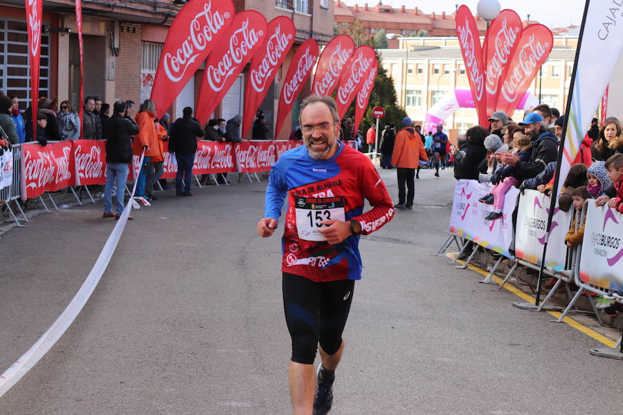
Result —
[[[548, 225], [551, 199], [536, 190], [526, 190], [519, 199], [517, 227], [515, 231], [515, 253], [518, 258], [541, 265], [543, 244]], [[548, 239], [545, 266], [554, 270], [565, 269], [567, 246], [565, 237], [569, 230], [572, 212], [554, 209], [552, 228]]]

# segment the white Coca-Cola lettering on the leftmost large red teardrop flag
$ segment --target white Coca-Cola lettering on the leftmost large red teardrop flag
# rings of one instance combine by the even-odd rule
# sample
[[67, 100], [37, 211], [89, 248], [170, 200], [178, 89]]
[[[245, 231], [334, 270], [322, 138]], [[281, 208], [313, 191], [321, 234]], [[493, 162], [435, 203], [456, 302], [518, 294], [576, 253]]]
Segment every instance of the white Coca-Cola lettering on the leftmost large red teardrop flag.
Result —
[[204, 4], [204, 10], [190, 21], [188, 37], [181, 46], [174, 53], [164, 55], [164, 71], [169, 80], [179, 82], [184, 77], [188, 66], [197, 60], [201, 51], [208, 46], [224, 27], [226, 19], [230, 17], [229, 12], [224, 12], [223, 15], [218, 10], [213, 12], [212, 1]]

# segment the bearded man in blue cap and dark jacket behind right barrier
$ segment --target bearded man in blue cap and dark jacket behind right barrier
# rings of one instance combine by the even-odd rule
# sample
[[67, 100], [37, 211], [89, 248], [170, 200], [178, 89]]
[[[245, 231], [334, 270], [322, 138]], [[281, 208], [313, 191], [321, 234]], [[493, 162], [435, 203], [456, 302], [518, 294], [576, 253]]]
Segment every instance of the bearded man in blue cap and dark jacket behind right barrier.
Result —
[[532, 156], [530, 160], [520, 161], [516, 154], [502, 156], [503, 163], [515, 166], [513, 176], [521, 183], [527, 178], [536, 177], [545, 166], [558, 157], [558, 138], [543, 124], [541, 114], [532, 112], [519, 122], [524, 127], [525, 135], [532, 138]]

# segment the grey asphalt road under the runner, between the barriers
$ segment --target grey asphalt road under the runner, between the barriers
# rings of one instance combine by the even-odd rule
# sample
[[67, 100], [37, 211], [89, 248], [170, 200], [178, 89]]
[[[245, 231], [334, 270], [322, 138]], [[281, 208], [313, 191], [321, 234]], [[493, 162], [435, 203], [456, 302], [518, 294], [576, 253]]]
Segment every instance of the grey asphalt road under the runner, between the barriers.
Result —
[[[395, 172], [381, 174], [396, 196]], [[414, 210], [362, 238], [332, 415], [621, 414], [623, 363], [588, 354], [602, 344], [430, 255], [454, 184], [422, 172]], [[265, 186], [168, 191], [134, 211], [82, 313], [0, 414], [291, 413], [280, 238], [255, 234]], [[84, 281], [114, 226], [101, 213], [42, 214], [0, 237], [0, 372]]]

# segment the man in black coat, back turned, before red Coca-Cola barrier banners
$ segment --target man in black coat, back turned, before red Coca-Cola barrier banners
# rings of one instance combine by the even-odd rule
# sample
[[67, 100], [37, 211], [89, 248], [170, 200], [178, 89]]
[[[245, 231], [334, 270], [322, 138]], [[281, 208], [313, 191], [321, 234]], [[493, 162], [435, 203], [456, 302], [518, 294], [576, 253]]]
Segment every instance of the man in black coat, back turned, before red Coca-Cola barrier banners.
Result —
[[[192, 118], [192, 108], [184, 108], [183, 117], [178, 118], [171, 127], [169, 142], [169, 151], [175, 153], [177, 160], [177, 176], [175, 177], [177, 196], [192, 196], [190, 184], [192, 183], [192, 165], [195, 164], [197, 152], [197, 137], [203, 136], [204, 129]], [[184, 181], [183, 191], [182, 179]]]

